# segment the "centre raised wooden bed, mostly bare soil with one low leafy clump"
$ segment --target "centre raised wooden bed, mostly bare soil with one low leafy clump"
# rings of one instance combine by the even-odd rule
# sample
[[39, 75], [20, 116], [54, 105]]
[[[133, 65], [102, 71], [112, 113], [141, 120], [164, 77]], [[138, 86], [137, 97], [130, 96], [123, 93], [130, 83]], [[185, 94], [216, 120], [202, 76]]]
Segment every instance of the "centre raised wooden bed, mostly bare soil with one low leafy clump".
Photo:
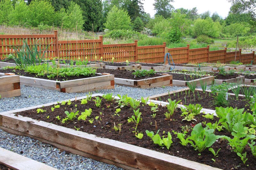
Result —
[[97, 69], [97, 72], [114, 74], [115, 84], [122, 86], [142, 89], [172, 86], [172, 75], [169, 74], [154, 74], [151, 76], [135, 77], [135, 75], [132, 74], [134, 73], [134, 70]]

